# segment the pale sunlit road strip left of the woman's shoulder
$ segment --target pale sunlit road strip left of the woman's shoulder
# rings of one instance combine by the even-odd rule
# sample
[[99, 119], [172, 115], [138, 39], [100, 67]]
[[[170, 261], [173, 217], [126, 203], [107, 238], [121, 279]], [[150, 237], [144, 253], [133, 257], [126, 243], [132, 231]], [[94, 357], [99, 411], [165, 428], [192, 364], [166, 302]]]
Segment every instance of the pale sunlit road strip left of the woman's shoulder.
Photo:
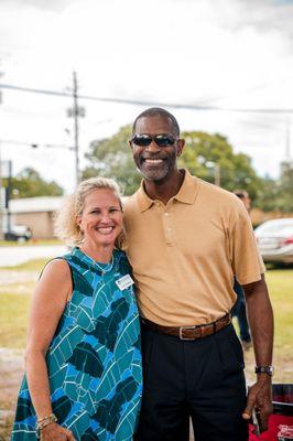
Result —
[[0, 247], [0, 267], [13, 267], [28, 260], [52, 258], [66, 252], [68, 249], [63, 245]]

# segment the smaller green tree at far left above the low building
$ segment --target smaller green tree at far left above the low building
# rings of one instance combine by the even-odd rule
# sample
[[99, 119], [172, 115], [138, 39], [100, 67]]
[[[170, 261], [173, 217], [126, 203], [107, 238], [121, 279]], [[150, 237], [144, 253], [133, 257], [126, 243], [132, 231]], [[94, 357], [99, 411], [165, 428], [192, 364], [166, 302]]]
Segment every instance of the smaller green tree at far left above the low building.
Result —
[[[3, 180], [4, 186], [8, 180]], [[23, 169], [17, 176], [11, 179], [10, 198], [35, 197], [35, 196], [61, 196], [63, 189], [54, 181], [44, 181], [37, 171], [31, 168]]]

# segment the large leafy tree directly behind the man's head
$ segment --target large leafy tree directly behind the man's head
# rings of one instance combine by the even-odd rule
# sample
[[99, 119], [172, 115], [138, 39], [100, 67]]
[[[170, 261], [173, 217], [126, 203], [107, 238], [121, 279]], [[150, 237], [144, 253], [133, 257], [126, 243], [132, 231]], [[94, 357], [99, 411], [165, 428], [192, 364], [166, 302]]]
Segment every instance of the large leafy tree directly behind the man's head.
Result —
[[[90, 176], [115, 178], [124, 189], [124, 194], [132, 194], [140, 185], [141, 175], [135, 170], [132, 153], [128, 146], [131, 127], [122, 127], [112, 138], [93, 141], [86, 158], [90, 165], [84, 170], [83, 179]], [[247, 190], [256, 197], [261, 186], [251, 165], [251, 160], [243, 153], [234, 153], [232, 147], [221, 135], [199, 131], [184, 132], [186, 140], [178, 165], [187, 168], [192, 174], [209, 182], [215, 182], [215, 165], [219, 170], [220, 185], [234, 191]]]

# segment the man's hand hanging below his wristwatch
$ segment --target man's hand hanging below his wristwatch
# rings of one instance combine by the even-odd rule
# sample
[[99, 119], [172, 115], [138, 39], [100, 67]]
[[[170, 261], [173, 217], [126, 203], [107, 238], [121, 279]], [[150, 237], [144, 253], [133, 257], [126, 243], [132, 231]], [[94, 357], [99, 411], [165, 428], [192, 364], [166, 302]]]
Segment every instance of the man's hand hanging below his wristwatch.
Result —
[[268, 430], [268, 418], [272, 413], [272, 384], [268, 374], [258, 375], [258, 380], [249, 388], [247, 406], [242, 417], [249, 420], [256, 411], [260, 432]]

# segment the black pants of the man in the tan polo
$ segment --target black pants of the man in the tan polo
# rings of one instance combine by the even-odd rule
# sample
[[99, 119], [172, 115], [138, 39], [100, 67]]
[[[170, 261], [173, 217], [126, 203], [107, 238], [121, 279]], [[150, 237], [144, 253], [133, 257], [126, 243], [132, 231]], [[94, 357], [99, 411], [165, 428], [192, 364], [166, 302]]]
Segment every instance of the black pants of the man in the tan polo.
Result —
[[135, 441], [247, 441], [243, 354], [230, 324], [196, 341], [142, 325], [144, 386]]

